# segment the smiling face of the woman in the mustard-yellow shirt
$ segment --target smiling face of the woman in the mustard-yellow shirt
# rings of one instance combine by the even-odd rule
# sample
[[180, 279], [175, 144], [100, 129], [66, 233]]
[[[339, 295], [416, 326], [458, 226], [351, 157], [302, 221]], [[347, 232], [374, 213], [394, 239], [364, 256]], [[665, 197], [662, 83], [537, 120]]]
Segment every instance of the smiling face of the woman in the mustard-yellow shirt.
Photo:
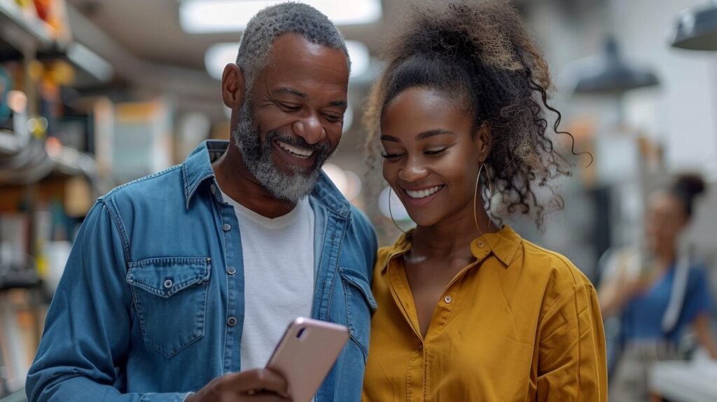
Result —
[[[442, 92], [412, 87], [381, 116], [384, 178], [419, 226], [473, 221], [473, 191], [487, 138]], [[479, 203], [481, 204], [481, 203]]]

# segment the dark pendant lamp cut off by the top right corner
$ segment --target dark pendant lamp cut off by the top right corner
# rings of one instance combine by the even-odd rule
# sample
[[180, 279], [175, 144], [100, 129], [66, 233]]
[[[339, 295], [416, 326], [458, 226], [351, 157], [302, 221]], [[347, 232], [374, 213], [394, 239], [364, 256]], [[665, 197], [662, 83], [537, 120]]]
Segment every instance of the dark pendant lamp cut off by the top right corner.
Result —
[[695, 6], [680, 14], [673, 47], [691, 50], [717, 50], [717, 0]]

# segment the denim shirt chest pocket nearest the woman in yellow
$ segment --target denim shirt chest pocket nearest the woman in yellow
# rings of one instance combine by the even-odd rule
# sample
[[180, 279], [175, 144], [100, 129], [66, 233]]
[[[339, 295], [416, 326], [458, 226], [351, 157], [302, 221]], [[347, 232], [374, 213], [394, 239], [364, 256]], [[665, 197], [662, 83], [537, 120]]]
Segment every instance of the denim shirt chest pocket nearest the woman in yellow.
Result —
[[346, 317], [351, 340], [361, 348], [366, 363], [371, 333], [371, 314], [376, 311], [376, 300], [364, 274], [351, 268], [339, 268], [343, 291], [346, 293]]

